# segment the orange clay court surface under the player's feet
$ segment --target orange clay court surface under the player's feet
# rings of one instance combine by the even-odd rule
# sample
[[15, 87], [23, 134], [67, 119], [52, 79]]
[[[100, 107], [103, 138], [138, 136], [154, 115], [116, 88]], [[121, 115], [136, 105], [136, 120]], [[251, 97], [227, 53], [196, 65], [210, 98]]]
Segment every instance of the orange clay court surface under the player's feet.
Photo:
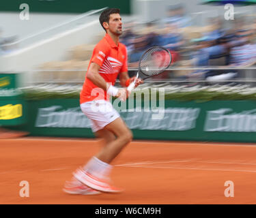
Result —
[[[124, 193], [70, 196], [73, 170], [102, 146], [99, 140], [0, 140], [0, 204], [255, 204], [256, 144], [130, 143], [114, 161], [112, 178]], [[20, 181], [29, 198], [20, 198]], [[234, 197], [224, 195], [225, 181]]]

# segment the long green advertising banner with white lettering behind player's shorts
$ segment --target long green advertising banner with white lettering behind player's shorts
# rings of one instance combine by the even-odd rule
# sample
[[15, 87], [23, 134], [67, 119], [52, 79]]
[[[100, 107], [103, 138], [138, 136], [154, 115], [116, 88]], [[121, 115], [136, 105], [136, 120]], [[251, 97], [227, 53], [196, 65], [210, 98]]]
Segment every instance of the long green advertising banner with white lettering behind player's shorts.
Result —
[[[124, 109], [113, 104], [136, 139], [256, 142], [256, 102], [181, 102], [166, 100], [165, 108]], [[79, 99], [27, 102], [32, 136], [94, 137]]]

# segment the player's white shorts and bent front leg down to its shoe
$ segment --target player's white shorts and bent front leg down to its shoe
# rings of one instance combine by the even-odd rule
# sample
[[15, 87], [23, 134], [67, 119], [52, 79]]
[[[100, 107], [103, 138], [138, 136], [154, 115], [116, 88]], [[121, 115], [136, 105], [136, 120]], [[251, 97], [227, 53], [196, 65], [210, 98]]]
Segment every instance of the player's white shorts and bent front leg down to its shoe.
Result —
[[81, 109], [91, 119], [92, 131], [104, 138], [106, 144], [83, 168], [76, 170], [74, 176], [92, 189], [119, 192], [119, 189], [109, 185], [113, 168], [109, 163], [132, 140], [132, 133], [110, 102], [91, 102], [83, 104]]

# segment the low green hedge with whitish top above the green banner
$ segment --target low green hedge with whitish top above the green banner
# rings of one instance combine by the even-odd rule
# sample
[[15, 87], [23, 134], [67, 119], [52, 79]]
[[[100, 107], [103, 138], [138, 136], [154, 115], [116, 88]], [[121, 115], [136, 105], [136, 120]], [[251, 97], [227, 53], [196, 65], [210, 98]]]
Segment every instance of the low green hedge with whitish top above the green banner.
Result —
[[[256, 100], [256, 89], [238, 85], [236, 87], [212, 86], [212, 87], [179, 87], [179, 86], [152, 86], [164, 88], [165, 99], [180, 101], [207, 102], [211, 100]], [[141, 93], [152, 87], [142, 87], [133, 93]], [[27, 87], [20, 89], [23, 97], [33, 99], [77, 99], [81, 87]], [[157, 95], [158, 97], [158, 95]]]

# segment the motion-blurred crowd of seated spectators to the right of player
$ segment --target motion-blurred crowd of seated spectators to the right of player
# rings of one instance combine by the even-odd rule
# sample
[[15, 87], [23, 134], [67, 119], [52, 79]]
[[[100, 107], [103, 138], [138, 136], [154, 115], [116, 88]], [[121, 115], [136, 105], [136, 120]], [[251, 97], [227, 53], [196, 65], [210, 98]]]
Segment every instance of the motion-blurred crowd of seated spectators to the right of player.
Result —
[[248, 22], [246, 16], [240, 15], [229, 21], [220, 17], [208, 18], [207, 22], [208, 25], [195, 25], [184, 12], [183, 5], [175, 5], [162, 20], [126, 24], [120, 41], [128, 48], [130, 69], [138, 67], [147, 48], [163, 46], [171, 52], [171, 67], [180, 67], [180, 70], [161, 74], [154, 78], [156, 80], [178, 78], [214, 82], [245, 77], [244, 70], [230, 68], [255, 64], [256, 19]]

